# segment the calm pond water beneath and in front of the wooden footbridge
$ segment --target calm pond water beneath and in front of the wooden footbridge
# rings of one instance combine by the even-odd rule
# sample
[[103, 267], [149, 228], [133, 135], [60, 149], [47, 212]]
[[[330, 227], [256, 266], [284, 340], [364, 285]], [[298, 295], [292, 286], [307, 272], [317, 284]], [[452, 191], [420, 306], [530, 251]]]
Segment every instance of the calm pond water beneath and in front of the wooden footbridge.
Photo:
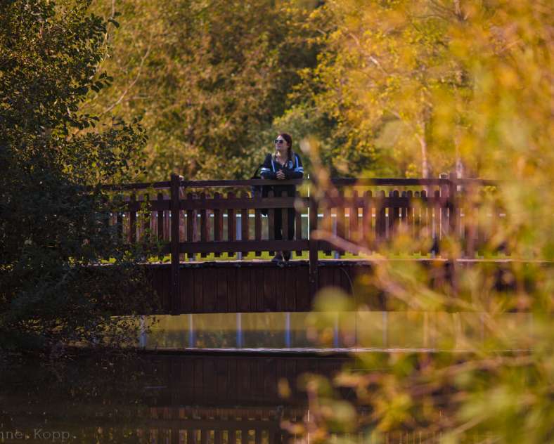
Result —
[[[449, 317], [451, 331], [435, 331], [440, 316]], [[314, 343], [311, 327], [322, 319], [329, 325], [323, 345]], [[530, 328], [532, 318], [514, 313], [502, 322], [509, 334]], [[69, 360], [3, 363], [0, 443], [295, 442], [282, 425], [309, 418], [303, 374], [356, 369], [345, 351], [428, 352], [444, 341], [463, 351], [456, 334], [472, 329], [485, 340], [479, 325], [478, 313], [164, 316], [141, 334], [136, 354], [77, 351]], [[404, 434], [389, 438], [419, 442]]]

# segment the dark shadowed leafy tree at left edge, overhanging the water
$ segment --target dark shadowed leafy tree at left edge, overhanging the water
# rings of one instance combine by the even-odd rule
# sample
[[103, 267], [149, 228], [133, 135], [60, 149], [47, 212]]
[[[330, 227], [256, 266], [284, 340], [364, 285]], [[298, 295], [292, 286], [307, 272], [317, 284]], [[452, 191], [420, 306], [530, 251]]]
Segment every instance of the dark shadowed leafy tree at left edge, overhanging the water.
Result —
[[[130, 252], [106, 223], [113, 202], [97, 185], [136, 174], [146, 137], [121, 119], [98, 128], [79, 110], [112, 81], [98, 71], [108, 23], [88, 7], [0, 5], [1, 346], [131, 340], [110, 318], [123, 299], [109, 296], [128, 291], [131, 310], [145, 306], [141, 276], [125, 266]], [[100, 258], [116, 266], [91, 266]]]

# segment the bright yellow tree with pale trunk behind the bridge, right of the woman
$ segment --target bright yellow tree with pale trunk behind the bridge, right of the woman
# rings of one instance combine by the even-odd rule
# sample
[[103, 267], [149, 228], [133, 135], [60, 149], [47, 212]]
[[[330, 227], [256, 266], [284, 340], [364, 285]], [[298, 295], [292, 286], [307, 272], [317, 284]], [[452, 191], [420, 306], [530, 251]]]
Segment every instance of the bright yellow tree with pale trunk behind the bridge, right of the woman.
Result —
[[446, 29], [463, 22], [456, 2], [328, 1], [319, 15], [322, 50], [304, 81], [318, 112], [337, 121], [347, 157], [371, 152], [371, 174], [428, 177], [451, 167], [456, 134], [437, 138], [433, 125], [434, 95], [463, 98], [469, 86], [449, 58]]

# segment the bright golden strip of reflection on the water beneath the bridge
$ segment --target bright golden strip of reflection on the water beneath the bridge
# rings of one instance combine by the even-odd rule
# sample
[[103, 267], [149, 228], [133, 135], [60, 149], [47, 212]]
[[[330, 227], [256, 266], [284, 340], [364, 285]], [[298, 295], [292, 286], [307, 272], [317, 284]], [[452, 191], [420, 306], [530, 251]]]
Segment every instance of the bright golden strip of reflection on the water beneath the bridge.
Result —
[[[328, 330], [326, 344], [311, 340], [311, 325]], [[288, 349], [306, 351], [464, 351], [462, 337], [487, 341], [480, 313], [380, 312], [352, 313], [224, 313], [158, 317], [150, 333], [143, 332], [145, 348]], [[148, 323], [148, 319], [144, 321]], [[531, 329], [531, 313], [503, 313], [496, 318], [509, 337], [516, 329]], [[439, 327], [440, 326], [440, 330]], [[446, 329], [445, 329], [445, 326]], [[325, 333], [325, 331], [324, 331]], [[321, 339], [321, 335], [320, 335]], [[518, 344], [513, 343], [517, 349]]]

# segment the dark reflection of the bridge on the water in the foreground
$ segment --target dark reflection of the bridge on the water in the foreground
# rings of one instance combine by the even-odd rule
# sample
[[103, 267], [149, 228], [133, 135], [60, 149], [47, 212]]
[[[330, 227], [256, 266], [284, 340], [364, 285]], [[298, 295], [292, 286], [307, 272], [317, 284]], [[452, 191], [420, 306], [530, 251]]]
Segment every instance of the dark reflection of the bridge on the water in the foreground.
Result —
[[11, 366], [0, 374], [0, 442], [283, 443], [294, 437], [281, 422], [307, 412], [299, 374], [330, 377], [345, 362], [219, 353]]

